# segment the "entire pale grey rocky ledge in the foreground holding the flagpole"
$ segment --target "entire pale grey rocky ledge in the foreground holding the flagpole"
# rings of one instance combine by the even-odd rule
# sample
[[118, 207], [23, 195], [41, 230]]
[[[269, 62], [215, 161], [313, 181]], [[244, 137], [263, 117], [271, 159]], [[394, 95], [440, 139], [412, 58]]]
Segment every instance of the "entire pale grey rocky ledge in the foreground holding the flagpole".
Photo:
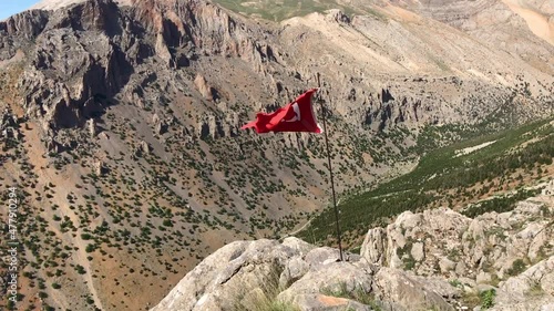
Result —
[[202, 261], [152, 311], [554, 310], [554, 198], [468, 218], [400, 215], [361, 255], [297, 238], [236, 241]]

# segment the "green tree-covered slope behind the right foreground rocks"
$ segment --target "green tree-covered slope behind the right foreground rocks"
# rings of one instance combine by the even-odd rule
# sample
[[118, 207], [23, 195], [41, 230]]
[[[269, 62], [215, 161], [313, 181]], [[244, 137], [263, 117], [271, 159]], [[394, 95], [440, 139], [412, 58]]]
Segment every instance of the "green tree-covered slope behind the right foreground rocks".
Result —
[[[552, 164], [554, 158], [554, 126], [552, 118], [530, 123], [517, 128], [478, 136], [440, 147], [423, 154], [418, 167], [401, 177], [375, 189], [350, 195], [342, 199], [341, 228], [356, 232], [371, 226], [387, 224], [404, 210], [421, 210], [435, 206], [463, 206], [492, 191], [505, 191], [521, 185], [517, 174], [530, 176], [533, 169]], [[533, 143], [526, 143], [534, 137]], [[540, 138], [537, 138], [540, 137]], [[468, 155], [456, 156], [455, 151], [484, 142], [494, 144]], [[525, 173], [526, 172], [526, 173]], [[519, 189], [515, 195], [484, 200], [472, 205], [464, 212], [474, 217], [486, 211], [506, 211], [516, 200], [535, 195], [540, 189]], [[325, 209], [310, 228], [299, 236], [308, 239], [332, 240], [334, 214]], [[309, 234], [308, 234], [309, 232]], [[308, 236], [309, 235], [309, 236]], [[357, 237], [356, 234], [352, 237]]]

